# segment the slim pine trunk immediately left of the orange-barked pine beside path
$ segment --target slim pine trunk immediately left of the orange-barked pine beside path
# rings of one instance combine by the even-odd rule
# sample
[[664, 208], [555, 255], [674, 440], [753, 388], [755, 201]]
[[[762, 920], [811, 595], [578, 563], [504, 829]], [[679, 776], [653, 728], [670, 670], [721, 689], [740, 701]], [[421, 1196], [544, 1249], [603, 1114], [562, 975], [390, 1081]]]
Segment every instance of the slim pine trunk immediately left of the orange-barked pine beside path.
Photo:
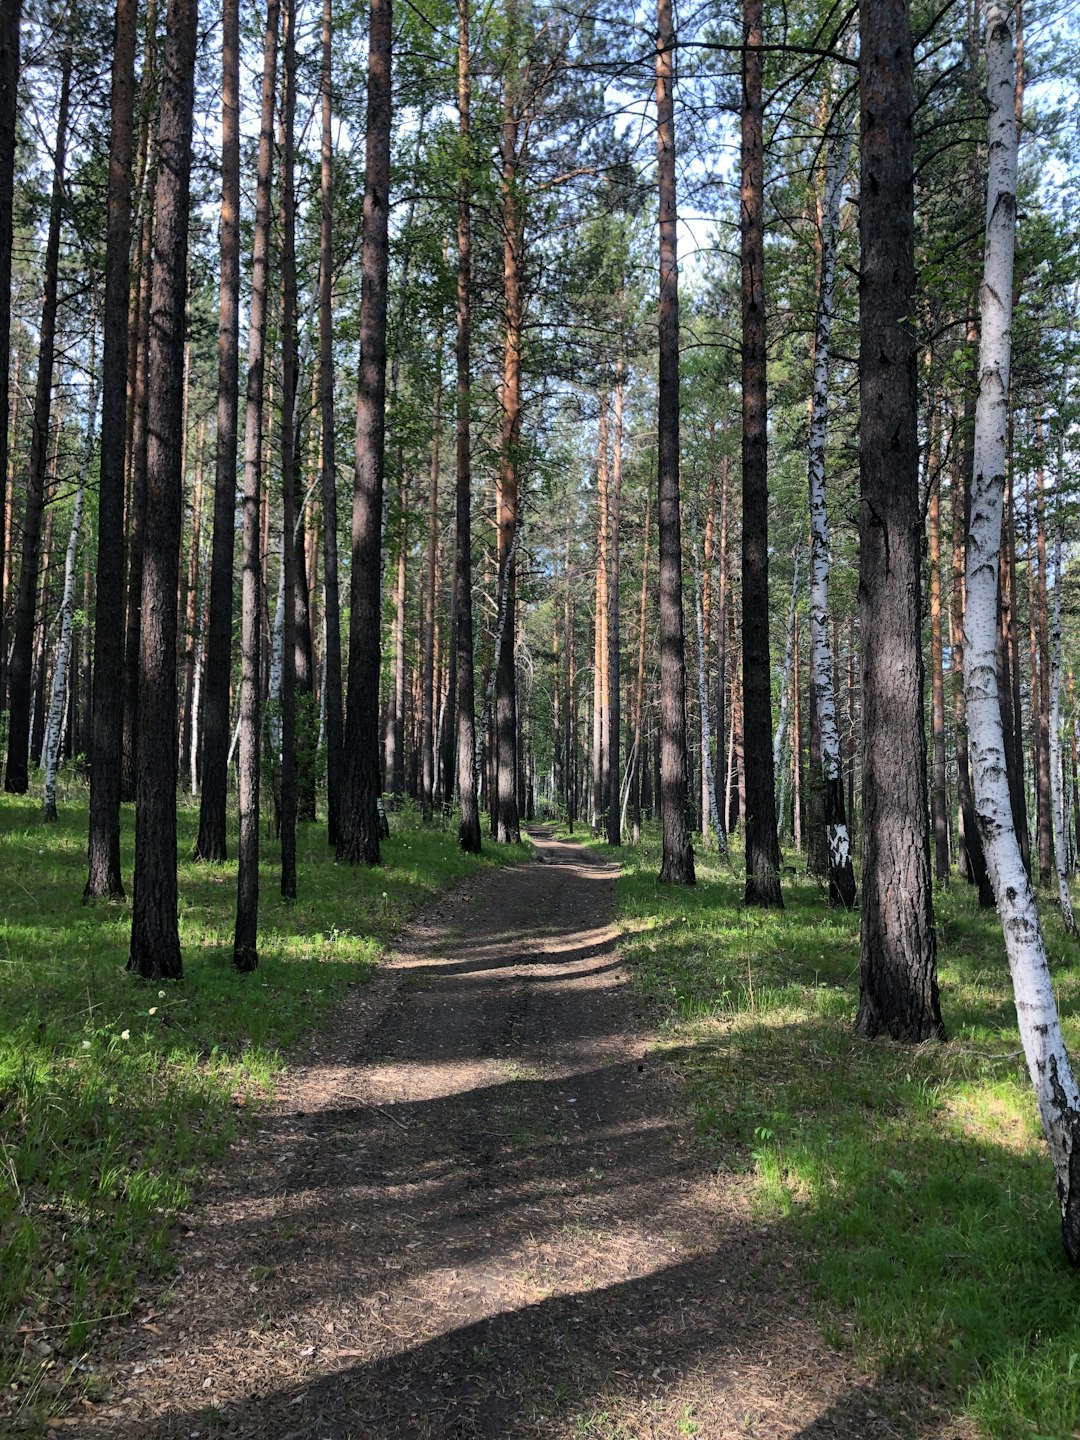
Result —
[[458, 842], [480, 854], [480, 806], [475, 766], [475, 696], [472, 675], [472, 455], [469, 444], [469, 307], [472, 292], [472, 217], [469, 153], [469, 6], [458, 0], [458, 117], [462, 147], [458, 177], [458, 312], [456, 312], [456, 454], [455, 454], [455, 553], [454, 615], [458, 652]]

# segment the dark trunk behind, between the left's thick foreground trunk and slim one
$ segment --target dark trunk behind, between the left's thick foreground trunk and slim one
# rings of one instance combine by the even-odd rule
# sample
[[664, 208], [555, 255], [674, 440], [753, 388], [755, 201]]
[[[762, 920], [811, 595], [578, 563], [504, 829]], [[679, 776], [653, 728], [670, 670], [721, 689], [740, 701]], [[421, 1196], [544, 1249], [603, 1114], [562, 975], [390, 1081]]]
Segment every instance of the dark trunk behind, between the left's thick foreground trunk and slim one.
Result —
[[217, 305], [217, 433], [215, 439], [210, 628], [203, 685], [202, 796], [197, 860], [226, 858], [229, 671], [232, 668], [236, 428], [240, 321], [240, 6], [222, 0], [222, 229]]

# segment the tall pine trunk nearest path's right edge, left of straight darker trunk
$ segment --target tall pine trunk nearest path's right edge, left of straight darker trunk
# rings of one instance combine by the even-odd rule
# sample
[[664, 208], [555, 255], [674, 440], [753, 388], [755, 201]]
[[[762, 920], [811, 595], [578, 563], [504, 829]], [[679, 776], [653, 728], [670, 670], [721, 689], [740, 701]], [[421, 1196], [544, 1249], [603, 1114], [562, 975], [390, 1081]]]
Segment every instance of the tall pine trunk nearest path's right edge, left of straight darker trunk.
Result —
[[687, 672], [683, 638], [683, 537], [678, 494], [678, 249], [675, 207], [675, 32], [671, 0], [657, 0], [657, 181], [660, 189], [660, 710], [664, 858], [660, 878], [693, 886], [687, 825]]

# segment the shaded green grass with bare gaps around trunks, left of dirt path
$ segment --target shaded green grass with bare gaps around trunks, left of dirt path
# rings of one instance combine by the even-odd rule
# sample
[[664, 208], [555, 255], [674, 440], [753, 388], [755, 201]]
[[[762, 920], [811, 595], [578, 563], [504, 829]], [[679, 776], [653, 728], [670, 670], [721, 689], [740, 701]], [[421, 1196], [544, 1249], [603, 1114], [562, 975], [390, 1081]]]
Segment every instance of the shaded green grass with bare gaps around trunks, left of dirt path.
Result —
[[[176, 1217], [266, 1094], [281, 1054], [364, 979], [438, 888], [527, 847], [465, 857], [445, 829], [392, 816], [377, 870], [334, 864], [301, 827], [300, 900], [262, 868], [261, 966], [232, 966], [235, 864], [180, 865], [184, 979], [127, 975], [127, 904], [84, 907], [85, 793], [40, 821], [0, 796], [0, 1430], [36, 1426], [88, 1382], [79, 1355], [170, 1266]], [[197, 812], [180, 812], [190, 855]], [[124, 815], [131, 876], [132, 815]], [[235, 838], [233, 838], [235, 850]]]

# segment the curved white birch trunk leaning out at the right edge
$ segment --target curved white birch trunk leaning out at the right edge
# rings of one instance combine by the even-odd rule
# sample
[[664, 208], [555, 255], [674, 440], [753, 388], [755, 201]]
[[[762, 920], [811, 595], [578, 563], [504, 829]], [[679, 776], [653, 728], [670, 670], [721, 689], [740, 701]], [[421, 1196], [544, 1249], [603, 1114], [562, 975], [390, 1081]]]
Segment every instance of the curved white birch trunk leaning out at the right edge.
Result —
[[1020, 1037], [1057, 1179], [1063, 1241], [1068, 1259], [1077, 1264], [1080, 1090], [1061, 1037], [1035, 894], [1012, 821], [995, 664], [1017, 220], [1015, 63], [1008, 13], [999, 0], [991, 0], [986, 10], [986, 251], [979, 295], [982, 337], [968, 524], [963, 688], [975, 812], [1005, 936]]

